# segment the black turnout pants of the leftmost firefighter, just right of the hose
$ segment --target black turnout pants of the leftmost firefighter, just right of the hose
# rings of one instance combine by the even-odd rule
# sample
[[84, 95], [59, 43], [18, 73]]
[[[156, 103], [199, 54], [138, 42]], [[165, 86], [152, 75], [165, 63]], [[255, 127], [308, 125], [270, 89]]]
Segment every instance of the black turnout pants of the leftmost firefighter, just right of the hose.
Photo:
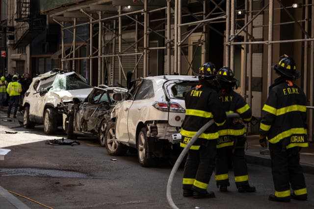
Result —
[[206, 193], [210, 176], [215, 166], [216, 139], [201, 145], [199, 150], [188, 151], [183, 171], [183, 189]]

